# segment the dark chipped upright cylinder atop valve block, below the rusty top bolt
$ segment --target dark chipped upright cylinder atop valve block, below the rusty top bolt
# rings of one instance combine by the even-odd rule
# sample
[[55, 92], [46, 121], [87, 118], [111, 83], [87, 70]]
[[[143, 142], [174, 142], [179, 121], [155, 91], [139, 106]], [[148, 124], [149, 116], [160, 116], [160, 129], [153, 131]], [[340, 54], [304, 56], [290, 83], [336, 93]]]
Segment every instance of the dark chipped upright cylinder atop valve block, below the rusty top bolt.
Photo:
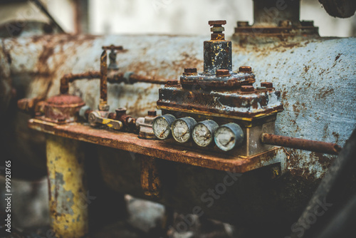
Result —
[[232, 71], [231, 41], [204, 41], [204, 72]]

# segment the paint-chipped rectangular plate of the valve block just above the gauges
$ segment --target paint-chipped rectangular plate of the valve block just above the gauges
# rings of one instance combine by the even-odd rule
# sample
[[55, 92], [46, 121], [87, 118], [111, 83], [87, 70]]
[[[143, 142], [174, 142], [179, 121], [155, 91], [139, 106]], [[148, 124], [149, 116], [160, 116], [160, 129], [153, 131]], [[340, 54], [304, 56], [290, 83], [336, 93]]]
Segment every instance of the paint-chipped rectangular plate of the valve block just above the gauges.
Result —
[[279, 91], [248, 90], [211, 91], [189, 90], [182, 87], [165, 86], [159, 89], [157, 108], [161, 110], [185, 111], [200, 115], [220, 116], [252, 120], [283, 110], [279, 102]]

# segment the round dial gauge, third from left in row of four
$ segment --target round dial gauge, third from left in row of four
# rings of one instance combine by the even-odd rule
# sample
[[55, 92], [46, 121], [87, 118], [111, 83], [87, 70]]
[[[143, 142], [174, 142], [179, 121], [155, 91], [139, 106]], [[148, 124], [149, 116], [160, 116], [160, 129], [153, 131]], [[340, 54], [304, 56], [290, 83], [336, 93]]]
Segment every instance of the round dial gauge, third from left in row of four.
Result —
[[217, 128], [219, 128], [219, 125], [214, 120], [204, 120], [198, 123], [193, 130], [194, 142], [201, 147], [211, 145]]

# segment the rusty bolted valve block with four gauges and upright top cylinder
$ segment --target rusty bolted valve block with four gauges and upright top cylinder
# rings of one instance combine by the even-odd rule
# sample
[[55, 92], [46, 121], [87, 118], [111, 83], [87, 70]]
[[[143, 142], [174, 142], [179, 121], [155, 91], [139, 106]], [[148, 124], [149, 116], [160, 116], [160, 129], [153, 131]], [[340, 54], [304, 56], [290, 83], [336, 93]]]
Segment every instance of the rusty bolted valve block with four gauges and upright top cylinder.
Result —
[[[283, 110], [281, 92], [268, 82], [254, 88], [256, 79], [249, 66], [232, 70], [231, 41], [225, 41], [224, 24], [209, 21], [213, 33], [204, 42], [204, 72], [185, 68], [180, 82], [168, 81], [159, 89], [157, 109], [162, 117], [153, 130], [160, 140], [169, 139], [172, 132], [174, 140], [167, 143], [252, 156], [273, 149], [260, 138], [261, 133], [274, 133], [277, 113]], [[167, 116], [174, 118], [172, 128]]]

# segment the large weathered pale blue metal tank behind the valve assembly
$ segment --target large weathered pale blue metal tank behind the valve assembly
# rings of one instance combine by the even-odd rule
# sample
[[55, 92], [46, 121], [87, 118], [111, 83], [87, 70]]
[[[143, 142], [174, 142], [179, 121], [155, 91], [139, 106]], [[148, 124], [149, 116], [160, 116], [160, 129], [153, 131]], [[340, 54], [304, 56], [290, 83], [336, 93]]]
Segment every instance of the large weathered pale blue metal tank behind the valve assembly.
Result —
[[[235, 35], [232, 39], [232, 70], [251, 66], [256, 84], [268, 81], [281, 90], [284, 110], [277, 116], [276, 134], [345, 145], [356, 125], [355, 38], [313, 36], [298, 41], [270, 42], [268, 36], [268, 41], [248, 42]], [[111, 44], [124, 49], [117, 53], [120, 72], [177, 80], [184, 68], [203, 70], [202, 44], [206, 40], [209, 36], [56, 35], [1, 39], [0, 67], [4, 75], [1, 88], [5, 92], [1, 99], [1, 115], [4, 115], [1, 120], [6, 126], [1, 129], [0, 146], [4, 157], [23, 165], [23, 170], [18, 170], [23, 174], [19, 176], [46, 174], [45, 137], [27, 128], [30, 116], [9, 106], [11, 95], [13, 101], [44, 100], [58, 95], [60, 79], [66, 73], [99, 71], [101, 48]], [[110, 112], [125, 107], [127, 114], [145, 116], [147, 111], [155, 110], [162, 86], [109, 83]], [[70, 83], [69, 93], [82, 98], [90, 108], [97, 108], [98, 88], [98, 78], [82, 79]], [[79, 138], [78, 135], [68, 137]], [[48, 140], [56, 144], [56, 139]], [[128, 145], [130, 140], [127, 141]], [[236, 175], [219, 171], [214, 165], [181, 163], [182, 157], [188, 156], [182, 150], [175, 154], [176, 162], [159, 162], [162, 181], [153, 189], [147, 188], [149, 191], [145, 193], [142, 190], [145, 165], [141, 162], [145, 156], [140, 151], [113, 149], [120, 148], [114, 139], [98, 140], [97, 144], [84, 147], [94, 148], [98, 153], [96, 158], [103, 180], [111, 190], [155, 200], [186, 214], [197, 212], [194, 209], [200, 207], [206, 217], [236, 224], [241, 236], [259, 234], [256, 225], [266, 233], [288, 234], [289, 230], [280, 227], [290, 229], [335, 159], [335, 155], [286, 148], [288, 164], [283, 175], [276, 174], [270, 166]], [[28, 166], [33, 170], [26, 170]], [[147, 172], [155, 174], [156, 166], [150, 166], [146, 165]], [[231, 179], [231, 188], [224, 194], [211, 195], [209, 190], [219, 189], [216, 181], [224, 183], [226, 176]], [[160, 191], [159, 196], [155, 192], [150, 194], [155, 190]]]

